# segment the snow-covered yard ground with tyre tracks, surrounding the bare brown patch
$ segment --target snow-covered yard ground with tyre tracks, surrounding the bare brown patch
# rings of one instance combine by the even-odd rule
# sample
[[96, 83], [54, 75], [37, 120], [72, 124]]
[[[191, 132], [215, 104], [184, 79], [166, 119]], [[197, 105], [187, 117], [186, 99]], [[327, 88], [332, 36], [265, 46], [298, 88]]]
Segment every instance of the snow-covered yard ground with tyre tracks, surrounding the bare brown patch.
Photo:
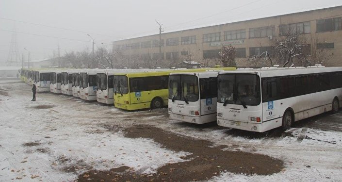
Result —
[[[170, 120], [167, 108], [126, 112], [52, 93], [37, 94], [33, 102], [31, 94], [25, 83], [0, 83], [0, 181], [68, 182], [89, 169], [123, 165], [139, 174], [150, 173], [167, 163], [184, 161], [181, 157], [189, 154], [164, 149], [150, 139], [125, 137], [121, 129], [136, 124], [155, 125], [226, 145], [226, 150], [265, 154], [285, 163], [273, 175], [226, 172], [212, 182], [342, 180], [342, 132], [336, 130], [341, 128], [341, 112], [301, 121], [304, 126], [286, 132], [260, 134]], [[322, 123], [326, 118], [335, 130], [310, 127], [315, 123], [312, 119]]]

